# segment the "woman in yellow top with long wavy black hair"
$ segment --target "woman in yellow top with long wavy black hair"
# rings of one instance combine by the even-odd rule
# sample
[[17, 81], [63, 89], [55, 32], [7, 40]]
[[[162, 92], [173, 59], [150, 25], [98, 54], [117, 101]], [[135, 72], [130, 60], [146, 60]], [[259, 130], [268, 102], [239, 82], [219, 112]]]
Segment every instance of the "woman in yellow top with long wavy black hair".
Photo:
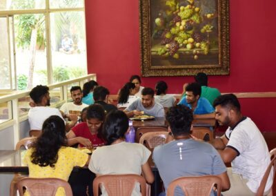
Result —
[[[24, 157], [29, 177], [56, 177], [66, 181], [74, 166], [86, 166], [89, 160], [86, 153], [67, 147], [64, 121], [55, 115], [44, 121], [41, 136]], [[63, 188], [59, 188], [56, 195], [65, 195]]]

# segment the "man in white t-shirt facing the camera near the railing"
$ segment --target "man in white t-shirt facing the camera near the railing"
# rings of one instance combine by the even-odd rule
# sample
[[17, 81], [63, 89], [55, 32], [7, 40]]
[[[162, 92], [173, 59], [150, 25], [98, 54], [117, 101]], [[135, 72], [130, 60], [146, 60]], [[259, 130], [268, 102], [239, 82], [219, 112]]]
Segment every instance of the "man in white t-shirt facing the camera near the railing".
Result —
[[73, 99], [73, 102], [65, 103], [61, 106], [60, 110], [63, 115], [63, 117], [70, 119], [70, 115], [81, 115], [81, 110], [83, 108], [88, 107], [87, 104], [82, 103], [82, 92], [81, 87], [79, 86], [72, 86], [70, 89], [71, 97]]

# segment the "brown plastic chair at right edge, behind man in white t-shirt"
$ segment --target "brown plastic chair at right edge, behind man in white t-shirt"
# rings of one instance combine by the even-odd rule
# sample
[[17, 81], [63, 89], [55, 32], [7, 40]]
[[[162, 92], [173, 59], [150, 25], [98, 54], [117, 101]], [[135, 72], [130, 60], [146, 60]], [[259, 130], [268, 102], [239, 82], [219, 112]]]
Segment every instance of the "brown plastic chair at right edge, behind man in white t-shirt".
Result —
[[[259, 184], [259, 188], [257, 189], [257, 194], [256, 196], [261, 196], [264, 195], [264, 188], [266, 188], [266, 182], [268, 180], [268, 176], [270, 174], [270, 170], [273, 167], [273, 182], [274, 182], [274, 177], [275, 177], [275, 172], [276, 172], [276, 156], [275, 156], [276, 148], [270, 151], [270, 157], [273, 157], [273, 159], [270, 161], [270, 164], [268, 165], [268, 168], [266, 168], [266, 172], [264, 173], [264, 176], [262, 178], [261, 184]], [[272, 191], [272, 189], [271, 189]]]

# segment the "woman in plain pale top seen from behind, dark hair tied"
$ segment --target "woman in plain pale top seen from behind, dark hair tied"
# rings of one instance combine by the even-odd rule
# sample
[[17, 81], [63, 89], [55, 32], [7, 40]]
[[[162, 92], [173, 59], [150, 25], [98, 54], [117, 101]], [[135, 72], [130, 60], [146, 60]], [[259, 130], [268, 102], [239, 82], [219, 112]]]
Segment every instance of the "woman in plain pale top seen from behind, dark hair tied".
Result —
[[[97, 148], [92, 154], [88, 168], [96, 175], [136, 174], [144, 175], [148, 183], [154, 176], [148, 164], [150, 150], [142, 144], [126, 143], [128, 117], [121, 110], [110, 112], [103, 124], [103, 135], [108, 146]], [[107, 195], [104, 188], [101, 192]], [[132, 195], [139, 195], [139, 185], [135, 186]]]

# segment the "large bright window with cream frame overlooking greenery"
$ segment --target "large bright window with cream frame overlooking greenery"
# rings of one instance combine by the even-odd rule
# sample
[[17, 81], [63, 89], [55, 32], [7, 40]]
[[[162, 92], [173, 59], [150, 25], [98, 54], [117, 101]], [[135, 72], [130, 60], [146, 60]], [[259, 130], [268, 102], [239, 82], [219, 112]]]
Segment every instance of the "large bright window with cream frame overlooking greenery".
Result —
[[84, 0], [0, 3], [0, 89], [30, 89], [87, 74]]

